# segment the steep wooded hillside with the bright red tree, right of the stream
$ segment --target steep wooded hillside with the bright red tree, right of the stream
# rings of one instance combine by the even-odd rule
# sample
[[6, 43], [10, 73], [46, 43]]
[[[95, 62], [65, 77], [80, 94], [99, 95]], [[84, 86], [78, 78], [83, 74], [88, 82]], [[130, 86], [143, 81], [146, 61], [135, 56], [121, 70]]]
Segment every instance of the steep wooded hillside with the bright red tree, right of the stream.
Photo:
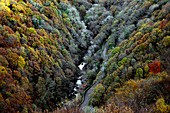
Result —
[[[95, 111], [94, 106], [104, 113], [126, 112], [126, 108], [129, 112], [168, 112], [170, 3], [90, 2], [75, 4], [94, 33], [84, 57], [83, 77], [85, 84], [91, 85], [83, 94], [81, 107], [86, 112]], [[165, 101], [164, 109], [163, 105], [155, 107], [160, 99]]]

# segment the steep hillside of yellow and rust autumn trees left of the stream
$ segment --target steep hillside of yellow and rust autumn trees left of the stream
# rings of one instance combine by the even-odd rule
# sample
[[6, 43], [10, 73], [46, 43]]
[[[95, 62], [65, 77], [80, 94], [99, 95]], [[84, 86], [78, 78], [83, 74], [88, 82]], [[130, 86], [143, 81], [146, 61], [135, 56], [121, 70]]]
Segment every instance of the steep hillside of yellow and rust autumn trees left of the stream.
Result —
[[72, 98], [91, 34], [75, 13], [67, 1], [0, 2], [1, 113], [53, 110]]

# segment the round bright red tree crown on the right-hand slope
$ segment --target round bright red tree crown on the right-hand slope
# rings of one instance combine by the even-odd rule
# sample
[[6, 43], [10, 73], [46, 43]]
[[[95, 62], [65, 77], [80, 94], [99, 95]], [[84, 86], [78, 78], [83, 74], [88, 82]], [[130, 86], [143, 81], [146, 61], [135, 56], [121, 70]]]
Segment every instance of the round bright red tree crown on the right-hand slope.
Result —
[[161, 63], [158, 60], [153, 61], [149, 64], [149, 72], [151, 73], [159, 73], [161, 71]]

